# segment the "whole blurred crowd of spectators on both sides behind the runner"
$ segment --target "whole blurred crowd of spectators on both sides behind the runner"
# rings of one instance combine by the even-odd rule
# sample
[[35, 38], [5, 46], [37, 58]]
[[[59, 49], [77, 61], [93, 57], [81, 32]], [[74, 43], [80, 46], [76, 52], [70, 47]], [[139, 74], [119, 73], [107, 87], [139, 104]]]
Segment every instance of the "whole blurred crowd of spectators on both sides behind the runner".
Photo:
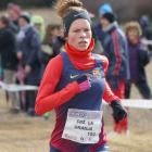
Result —
[[[42, 16], [22, 12], [20, 7], [13, 3], [8, 4], [7, 12], [0, 16], [0, 80], [7, 84], [39, 86], [48, 62], [64, 51], [62, 25], [52, 24], [53, 21], [46, 25]], [[140, 21], [126, 23], [122, 29], [109, 3], [99, 8], [99, 23], [96, 26], [94, 14], [89, 13], [89, 16], [96, 42], [92, 52], [109, 59], [106, 80], [113, 92], [121, 99], [129, 99], [131, 84], [135, 84], [144, 99], [152, 99], [144, 72], [152, 51], [150, 18], [143, 15]], [[147, 40], [149, 45], [145, 43]], [[116, 65], [113, 64], [115, 61]], [[121, 73], [116, 76], [118, 71]], [[17, 92], [8, 92], [11, 100], [10, 112], [17, 114], [24, 109], [28, 116], [36, 116], [36, 91], [24, 93], [24, 109], [22, 94], [18, 97]], [[45, 115], [46, 118], [48, 115]], [[127, 119], [123, 124], [124, 128], [115, 124], [115, 132], [128, 130]]]

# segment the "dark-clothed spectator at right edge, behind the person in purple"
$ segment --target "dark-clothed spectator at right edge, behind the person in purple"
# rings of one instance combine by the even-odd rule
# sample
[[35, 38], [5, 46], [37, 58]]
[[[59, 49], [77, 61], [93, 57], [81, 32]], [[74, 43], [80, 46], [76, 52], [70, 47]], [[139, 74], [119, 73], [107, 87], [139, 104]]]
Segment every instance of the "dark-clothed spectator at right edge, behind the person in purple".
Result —
[[[147, 15], [141, 16], [140, 18], [140, 25], [142, 28], [142, 38], [152, 40], [152, 29], [151, 29], [151, 22]], [[152, 51], [152, 46], [149, 45], [148, 49]]]

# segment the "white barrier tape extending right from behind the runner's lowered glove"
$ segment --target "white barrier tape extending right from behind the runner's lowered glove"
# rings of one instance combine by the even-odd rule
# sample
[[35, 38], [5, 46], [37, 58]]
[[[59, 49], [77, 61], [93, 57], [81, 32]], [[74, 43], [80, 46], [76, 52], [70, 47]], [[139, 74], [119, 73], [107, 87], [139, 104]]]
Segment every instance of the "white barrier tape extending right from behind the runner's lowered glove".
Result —
[[[107, 104], [104, 101], [104, 104]], [[123, 99], [122, 104], [127, 107], [152, 109], [152, 100]]]

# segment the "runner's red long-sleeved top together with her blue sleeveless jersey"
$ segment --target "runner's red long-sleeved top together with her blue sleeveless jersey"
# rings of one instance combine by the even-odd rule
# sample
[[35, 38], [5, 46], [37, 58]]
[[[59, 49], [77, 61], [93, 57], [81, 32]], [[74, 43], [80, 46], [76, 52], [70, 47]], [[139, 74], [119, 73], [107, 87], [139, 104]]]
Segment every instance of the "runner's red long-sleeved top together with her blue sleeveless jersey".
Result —
[[[88, 63], [89, 68], [87, 68]], [[85, 63], [81, 56], [78, 61], [76, 56], [72, 60], [66, 52], [59, 54], [49, 62], [39, 87], [35, 110], [39, 115], [55, 110], [56, 124], [50, 140], [50, 144], [55, 149], [64, 152], [94, 151], [107, 142], [103, 129], [104, 125], [101, 128], [99, 143], [80, 144], [62, 139], [68, 109], [102, 111], [102, 99], [106, 102], [119, 101], [113, 94], [104, 78], [107, 64], [105, 56], [90, 53], [90, 62], [88, 60], [87, 65], [84, 66]], [[80, 92], [76, 79], [89, 72], [93, 73], [91, 89]], [[101, 122], [103, 123], [103, 119]]]

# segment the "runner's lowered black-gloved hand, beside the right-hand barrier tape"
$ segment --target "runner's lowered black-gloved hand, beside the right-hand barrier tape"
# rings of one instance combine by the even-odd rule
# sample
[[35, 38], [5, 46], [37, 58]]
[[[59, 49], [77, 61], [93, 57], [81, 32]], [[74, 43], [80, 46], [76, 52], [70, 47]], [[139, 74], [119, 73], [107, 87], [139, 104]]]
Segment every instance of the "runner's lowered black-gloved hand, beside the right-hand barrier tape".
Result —
[[127, 116], [127, 111], [118, 101], [112, 101], [111, 106], [113, 109], [113, 117], [116, 124], [118, 124], [121, 119], [124, 119]]

